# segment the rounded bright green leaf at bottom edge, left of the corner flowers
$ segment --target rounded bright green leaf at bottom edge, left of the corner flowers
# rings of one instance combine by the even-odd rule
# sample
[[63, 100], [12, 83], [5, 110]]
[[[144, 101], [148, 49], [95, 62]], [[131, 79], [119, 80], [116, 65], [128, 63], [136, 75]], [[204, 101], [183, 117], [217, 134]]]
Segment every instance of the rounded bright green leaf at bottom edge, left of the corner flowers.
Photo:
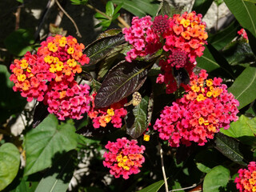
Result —
[[208, 174], [202, 184], [204, 192], [218, 192], [223, 190], [230, 180], [230, 170], [224, 166], [215, 166]]

